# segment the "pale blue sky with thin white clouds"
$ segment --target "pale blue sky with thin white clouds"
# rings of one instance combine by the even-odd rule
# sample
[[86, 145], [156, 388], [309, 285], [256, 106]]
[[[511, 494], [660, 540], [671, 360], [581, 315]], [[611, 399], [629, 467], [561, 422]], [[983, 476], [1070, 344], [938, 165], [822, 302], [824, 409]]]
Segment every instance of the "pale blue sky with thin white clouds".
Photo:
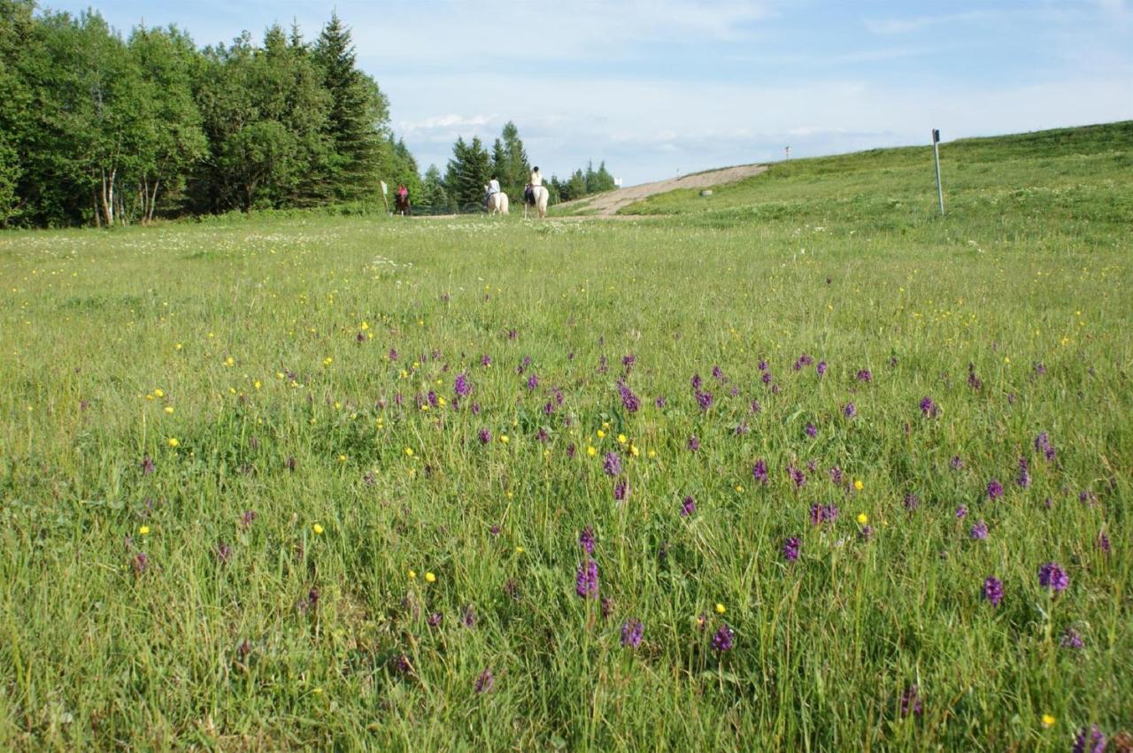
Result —
[[546, 176], [710, 168], [1133, 119], [1133, 0], [41, 0], [204, 46], [337, 11], [421, 171], [509, 120]]

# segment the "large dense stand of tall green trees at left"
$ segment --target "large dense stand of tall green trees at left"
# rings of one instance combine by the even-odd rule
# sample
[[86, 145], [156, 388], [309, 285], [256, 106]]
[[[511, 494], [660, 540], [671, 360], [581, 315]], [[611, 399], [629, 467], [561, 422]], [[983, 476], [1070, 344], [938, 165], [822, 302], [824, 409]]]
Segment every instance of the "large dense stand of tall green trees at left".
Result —
[[198, 49], [176, 26], [123, 37], [97, 12], [0, 0], [0, 224], [376, 200], [419, 187], [389, 102], [333, 16]]

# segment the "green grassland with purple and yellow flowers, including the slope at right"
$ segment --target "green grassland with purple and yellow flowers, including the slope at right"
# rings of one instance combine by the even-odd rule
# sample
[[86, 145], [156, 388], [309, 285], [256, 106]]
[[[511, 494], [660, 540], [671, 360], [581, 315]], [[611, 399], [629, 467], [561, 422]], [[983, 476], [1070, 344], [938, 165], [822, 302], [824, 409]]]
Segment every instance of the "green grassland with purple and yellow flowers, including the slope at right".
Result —
[[0, 746], [1128, 750], [1133, 123], [942, 159], [0, 234]]

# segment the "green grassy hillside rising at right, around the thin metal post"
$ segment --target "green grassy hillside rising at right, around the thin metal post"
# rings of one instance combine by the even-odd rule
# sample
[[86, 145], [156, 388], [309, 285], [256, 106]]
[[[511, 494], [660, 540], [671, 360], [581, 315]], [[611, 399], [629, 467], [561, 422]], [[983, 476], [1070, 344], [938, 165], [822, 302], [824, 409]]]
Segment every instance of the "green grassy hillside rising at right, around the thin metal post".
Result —
[[[1015, 231], [1055, 220], [1096, 242], [1133, 223], [1133, 121], [940, 145], [949, 221]], [[791, 160], [714, 190], [675, 190], [622, 214], [698, 225], [807, 222], [908, 231], [939, 222], [929, 146]]]

